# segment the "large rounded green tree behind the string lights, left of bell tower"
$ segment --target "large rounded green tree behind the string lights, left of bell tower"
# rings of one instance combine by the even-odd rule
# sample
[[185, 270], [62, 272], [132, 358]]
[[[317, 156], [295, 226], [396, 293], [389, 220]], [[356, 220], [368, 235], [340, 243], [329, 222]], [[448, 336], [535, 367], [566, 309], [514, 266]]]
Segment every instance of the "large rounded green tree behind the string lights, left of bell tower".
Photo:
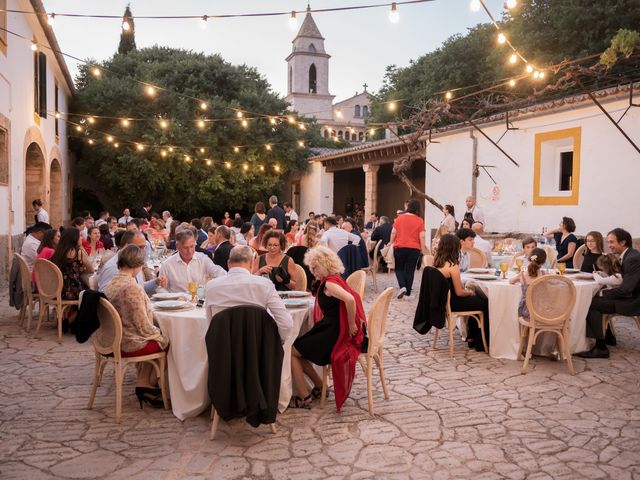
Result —
[[[218, 55], [156, 46], [117, 54], [102, 66], [100, 77], [85, 67], [77, 79], [73, 109], [81, 116], [72, 120], [84, 119], [86, 129], [73, 147], [79, 169], [96, 179], [108, 208], [143, 200], [185, 215], [246, 208], [276, 192], [285, 175], [306, 167], [306, 147], [323, 145], [317, 125], [307, 123], [301, 130], [283, 119], [287, 104], [255, 69], [231, 65]], [[149, 96], [131, 77], [167, 91]], [[196, 99], [206, 101], [206, 111]], [[254, 118], [243, 128], [233, 109], [249, 112], [246, 117], [255, 112], [280, 120], [273, 125]], [[86, 121], [88, 115], [95, 123]], [[125, 128], [122, 118], [145, 120]], [[202, 118], [218, 121], [200, 129]], [[161, 119], [167, 128], [161, 128]], [[119, 148], [106, 141], [108, 134]], [[138, 151], [136, 143], [144, 150]], [[235, 146], [241, 146], [238, 153]]]

